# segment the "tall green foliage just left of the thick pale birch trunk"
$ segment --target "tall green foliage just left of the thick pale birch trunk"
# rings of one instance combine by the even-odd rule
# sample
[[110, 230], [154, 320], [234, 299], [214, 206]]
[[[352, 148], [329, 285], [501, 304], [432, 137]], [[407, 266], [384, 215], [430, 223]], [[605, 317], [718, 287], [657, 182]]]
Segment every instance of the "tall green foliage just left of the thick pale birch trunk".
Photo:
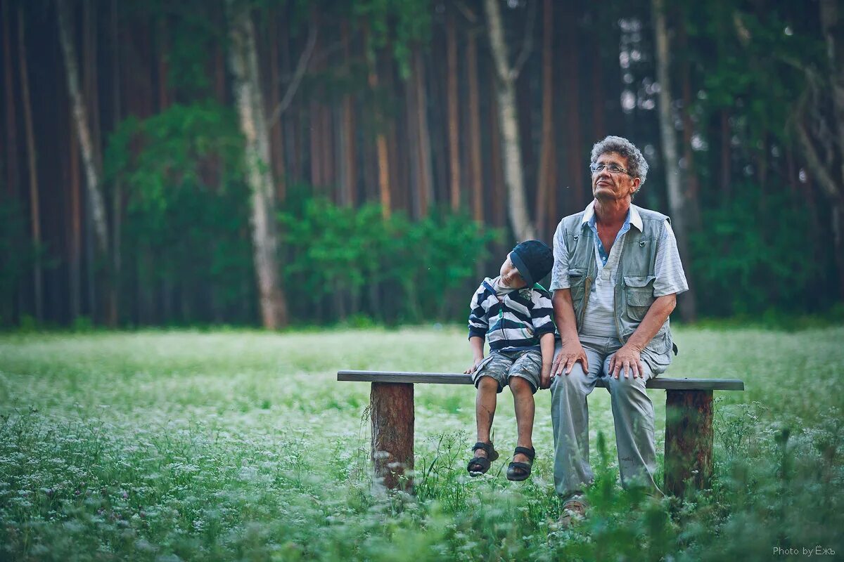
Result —
[[142, 282], [178, 286], [184, 303], [210, 297], [241, 322], [254, 306], [242, 158], [235, 115], [214, 102], [129, 118], [105, 155], [109, 185], [127, 193], [124, 252], [149, 258]]

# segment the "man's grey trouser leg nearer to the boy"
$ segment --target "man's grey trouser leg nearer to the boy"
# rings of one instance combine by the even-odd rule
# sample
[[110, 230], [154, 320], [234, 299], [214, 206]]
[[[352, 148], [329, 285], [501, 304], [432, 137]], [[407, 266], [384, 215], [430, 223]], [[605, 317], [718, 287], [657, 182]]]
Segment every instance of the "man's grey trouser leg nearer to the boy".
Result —
[[[589, 372], [580, 361], [569, 374], [551, 380], [551, 422], [554, 428], [554, 486], [563, 500], [580, 494], [594, 474], [589, 466], [589, 410], [586, 397], [595, 388], [603, 357], [583, 347]], [[560, 345], [557, 345], [557, 350]]]

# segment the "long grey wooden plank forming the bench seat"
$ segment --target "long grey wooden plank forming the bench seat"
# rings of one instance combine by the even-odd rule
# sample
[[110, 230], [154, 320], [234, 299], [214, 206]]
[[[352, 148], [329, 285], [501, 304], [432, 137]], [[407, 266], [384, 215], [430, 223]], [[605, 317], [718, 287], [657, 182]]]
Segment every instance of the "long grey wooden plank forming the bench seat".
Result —
[[[471, 375], [453, 372], [338, 371], [337, 380], [360, 383], [472, 384]], [[598, 379], [597, 386], [606, 388], [607, 382], [603, 377]], [[744, 382], [738, 378], [656, 377], [647, 382], [647, 388], [663, 390], [744, 390]]]

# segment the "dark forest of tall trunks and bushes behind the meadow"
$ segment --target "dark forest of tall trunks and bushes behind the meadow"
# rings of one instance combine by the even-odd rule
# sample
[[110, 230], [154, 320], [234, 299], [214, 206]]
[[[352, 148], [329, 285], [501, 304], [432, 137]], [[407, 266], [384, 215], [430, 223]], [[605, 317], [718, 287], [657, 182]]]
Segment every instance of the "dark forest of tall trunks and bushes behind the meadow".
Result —
[[462, 322], [607, 135], [682, 320], [842, 311], [836, 0], [0, 4], [0, 326]]

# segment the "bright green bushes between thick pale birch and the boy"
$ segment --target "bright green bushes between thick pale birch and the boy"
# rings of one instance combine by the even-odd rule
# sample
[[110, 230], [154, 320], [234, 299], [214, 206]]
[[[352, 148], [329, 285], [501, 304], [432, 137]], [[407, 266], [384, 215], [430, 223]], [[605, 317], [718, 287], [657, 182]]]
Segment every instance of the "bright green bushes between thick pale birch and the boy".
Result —
[[321, 198], [289, 205], [279, 221], [290, 256], [284, 264], [290, 294], [304, 292], [312, 306], [337, 292], [357, 299], [365, 286], [397, 286], [398, 315], [414, 321], [442, 318], [452, 299], [468, 299], [460, 289], [497, 236], [465, 215], [411, 222], [395, 213], [384, 220], [379, 206], [353, 209]]

